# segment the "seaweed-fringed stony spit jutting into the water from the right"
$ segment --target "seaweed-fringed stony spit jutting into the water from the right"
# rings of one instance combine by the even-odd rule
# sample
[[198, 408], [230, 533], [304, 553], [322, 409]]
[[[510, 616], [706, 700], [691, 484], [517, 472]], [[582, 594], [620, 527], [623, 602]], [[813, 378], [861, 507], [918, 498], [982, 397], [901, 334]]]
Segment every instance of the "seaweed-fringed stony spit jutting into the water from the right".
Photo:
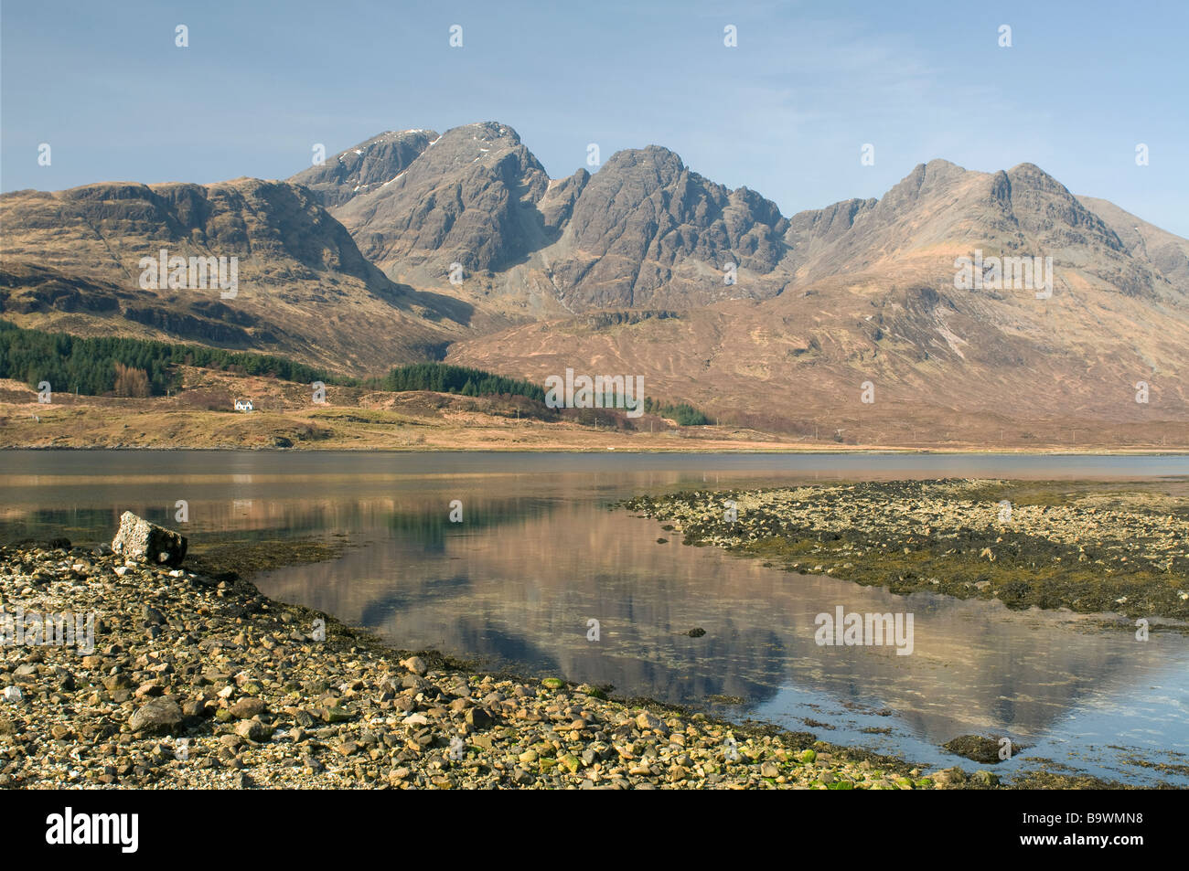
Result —
[[643, 496], [616, 507], [660, 522], [684, 544], [788, 572], [1189, 632], [1189, 506], [1162, 493], [1095, 491], [1100, 484], [839, 482]]

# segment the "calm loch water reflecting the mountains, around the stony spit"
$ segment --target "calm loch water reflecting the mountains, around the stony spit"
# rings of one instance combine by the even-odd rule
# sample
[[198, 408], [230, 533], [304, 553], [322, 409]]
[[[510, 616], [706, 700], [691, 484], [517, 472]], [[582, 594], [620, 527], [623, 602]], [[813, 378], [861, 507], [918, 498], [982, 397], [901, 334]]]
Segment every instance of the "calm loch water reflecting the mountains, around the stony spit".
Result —
[[[1185, 494], [1189, 457], [0, 452], [0, 539], [107, 541], [125, 510], [182, 526], [184, 499], [196, 543], [347, 536], [341, 558], [257, 583], [402, 648], [611, 683], [929, 765], [965, 762], [939, 744], [994, 732], [1030, 745], [1000, 771], [1044, 757], [1189, 785], [1134, 764], [1189, 764], [1185, 637], [1145, 644], [1069, 614], [765, 568], [660, 544], [655, 522], [609, 510], [677, 488], [940, 476], [1162, 479]], [[463, 523], [448, 520], [454, 499]], [[912, 612], [913, 654], [818, 646], [813, 618], [838, 605]], [[694, 626], [706, 635], [680, 635]]]

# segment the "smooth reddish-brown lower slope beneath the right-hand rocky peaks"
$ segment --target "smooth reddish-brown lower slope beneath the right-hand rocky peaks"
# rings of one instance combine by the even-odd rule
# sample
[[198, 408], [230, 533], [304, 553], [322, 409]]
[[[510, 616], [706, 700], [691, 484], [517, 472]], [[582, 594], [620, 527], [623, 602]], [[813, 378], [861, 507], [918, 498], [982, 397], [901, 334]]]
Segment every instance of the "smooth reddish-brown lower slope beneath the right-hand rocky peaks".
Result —
[[457, 342], [447, 361], [539, 383], [642, 375], [649, 396], [819, 441], [1189, 446], [1183, 310], [1097, 289], [1037, 301], [939, 285], [856, 276], [663, 316], [541, 321]]

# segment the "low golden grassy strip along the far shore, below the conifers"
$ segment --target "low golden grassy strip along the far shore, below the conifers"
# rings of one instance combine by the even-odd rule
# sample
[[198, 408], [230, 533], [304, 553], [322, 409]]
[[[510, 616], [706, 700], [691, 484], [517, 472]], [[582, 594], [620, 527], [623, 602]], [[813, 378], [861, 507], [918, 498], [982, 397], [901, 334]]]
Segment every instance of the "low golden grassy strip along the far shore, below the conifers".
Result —
[[[1000, 421], [992, 431], [982, 418], [962, 418], [939, 429], [924, 427], [919, 433], [924, 437], [918, 438], [916, 429], [905, 430], [897, 421], [860, 424], [823, 409], [805, 410], [784, 429], [757, 428], [749, 418], [691, 425], [656, 415], [638, 423], [615, 416], [546, 419], [507, 397], [345, 389], [334, 404], [312, 405], [306, 387], [294, 383], [206, 371], [189, 372], [188, 379], [188, 386], [172, 397], [61, 395], [46, 404], [38, 403], [27, 385], [0, 379], [0, 444], [17, 449], [410, 453], [1189, 454], [1187, 429], [1176, 421], [1153, 422], [1145, 429], [1078, 418]], [[259, 408], [231, 411], [232, 396], [251, 396]], [[224, 397], [219, 402], [226, 402], [225, 408], [219, 408], [216, 397]]]

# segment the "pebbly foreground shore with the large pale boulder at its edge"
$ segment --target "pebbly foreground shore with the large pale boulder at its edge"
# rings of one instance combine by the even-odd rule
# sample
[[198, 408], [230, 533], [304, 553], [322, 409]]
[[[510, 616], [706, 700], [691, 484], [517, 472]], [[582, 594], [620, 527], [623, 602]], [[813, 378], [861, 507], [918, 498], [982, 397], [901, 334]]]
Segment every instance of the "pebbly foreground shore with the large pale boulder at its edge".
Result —
[[1131, 788], [1043, 766], [1005, 784], [993, 766], [957, 759], [930, 774], [810, 732], [608, 699], [560, 677], [484, 674], [207, 570], [0, 547], [10, 611], [20, 597], [26, 612], [96, 612], [89, 657], [4, 648], [2, 680], [21, 698], [0, 715], [0, 785]]

